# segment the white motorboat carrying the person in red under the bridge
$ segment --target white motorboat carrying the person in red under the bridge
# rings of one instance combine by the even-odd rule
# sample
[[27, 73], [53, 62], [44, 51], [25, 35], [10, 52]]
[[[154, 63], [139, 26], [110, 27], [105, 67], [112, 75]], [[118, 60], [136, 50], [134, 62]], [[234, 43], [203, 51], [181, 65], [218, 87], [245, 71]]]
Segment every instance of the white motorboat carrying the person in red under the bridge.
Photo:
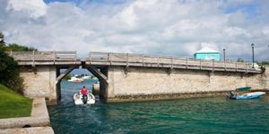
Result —
[[83, 104], [88, 104], [88, 105], [93, 105], [95, 104], [95, 96], [92, 94], [88, 93], [87, 96], [82, 96], [82, 93], [76, 93], [74, 94], [74, 104], [75, 105], [83, 105]]

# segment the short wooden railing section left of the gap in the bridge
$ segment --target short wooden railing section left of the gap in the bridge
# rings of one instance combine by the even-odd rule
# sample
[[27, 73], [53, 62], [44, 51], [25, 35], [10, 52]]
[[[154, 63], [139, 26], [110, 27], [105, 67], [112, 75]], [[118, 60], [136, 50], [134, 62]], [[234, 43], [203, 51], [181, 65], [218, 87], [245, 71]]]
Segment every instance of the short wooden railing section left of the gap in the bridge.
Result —
[[76, 62], [75, 51], [8, 51], [17, 62]]

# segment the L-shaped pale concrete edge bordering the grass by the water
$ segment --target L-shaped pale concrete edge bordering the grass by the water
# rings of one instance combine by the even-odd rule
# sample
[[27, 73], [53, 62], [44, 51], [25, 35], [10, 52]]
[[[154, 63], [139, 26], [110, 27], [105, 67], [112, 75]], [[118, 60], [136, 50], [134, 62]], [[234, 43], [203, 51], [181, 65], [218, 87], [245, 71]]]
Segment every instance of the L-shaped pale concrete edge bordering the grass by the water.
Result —
[[[44, 97], [34, 97], [30, 117], [0, 119], [0, 129], [50, 126]], [[0, 130], [1, 131], [1, 130]]]

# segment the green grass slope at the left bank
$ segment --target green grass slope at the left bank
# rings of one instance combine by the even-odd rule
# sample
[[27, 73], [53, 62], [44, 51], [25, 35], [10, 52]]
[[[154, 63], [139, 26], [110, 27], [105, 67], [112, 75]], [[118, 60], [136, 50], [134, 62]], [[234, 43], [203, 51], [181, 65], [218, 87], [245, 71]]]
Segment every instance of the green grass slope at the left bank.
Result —
[[30, 116], [32, 99], [0, 84], [0, 119]]

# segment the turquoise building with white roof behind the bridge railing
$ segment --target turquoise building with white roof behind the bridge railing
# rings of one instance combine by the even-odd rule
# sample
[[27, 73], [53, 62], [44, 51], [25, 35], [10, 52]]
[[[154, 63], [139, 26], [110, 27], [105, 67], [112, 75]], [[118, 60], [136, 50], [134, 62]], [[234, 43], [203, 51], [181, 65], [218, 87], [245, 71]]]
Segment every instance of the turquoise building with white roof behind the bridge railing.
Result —
[[213, 50], [208, 47], [204, 47], [203, 49], [195, 52], [194, 54], [195, 60], [215, 60], [221, 61], [221, 54], [219, 51]]

